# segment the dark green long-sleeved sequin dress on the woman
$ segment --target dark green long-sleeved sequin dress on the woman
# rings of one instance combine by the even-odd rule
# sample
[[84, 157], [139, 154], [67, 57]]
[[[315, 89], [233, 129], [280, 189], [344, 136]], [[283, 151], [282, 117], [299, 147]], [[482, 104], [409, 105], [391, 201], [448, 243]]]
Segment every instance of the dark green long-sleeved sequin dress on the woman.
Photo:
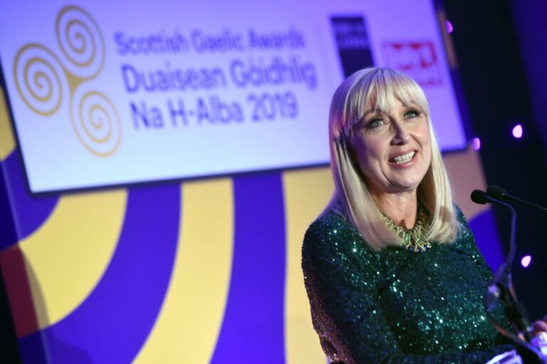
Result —
[[[333, 363], [486, 363], [514, 348], [486, 318], [491, 270], [459, 209], [457, 218], [456, 241], [420, 253], [372, 251], [334, 212], [311, 224], [302, 269], [313, 326]], [[501, 308], [494, 316], [508, 326]]]

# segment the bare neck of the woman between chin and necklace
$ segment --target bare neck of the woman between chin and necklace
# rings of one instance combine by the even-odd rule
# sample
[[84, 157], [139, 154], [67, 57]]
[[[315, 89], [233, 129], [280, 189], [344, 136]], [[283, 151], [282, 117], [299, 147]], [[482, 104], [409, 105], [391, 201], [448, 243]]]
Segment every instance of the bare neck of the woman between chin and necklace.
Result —
[[413, 192], [402, 192], [392, 194], [374, 194], [378, 208], [395, 224], [411, 229], [416, 224], [416, 214], [418, 209], [417, 194]]

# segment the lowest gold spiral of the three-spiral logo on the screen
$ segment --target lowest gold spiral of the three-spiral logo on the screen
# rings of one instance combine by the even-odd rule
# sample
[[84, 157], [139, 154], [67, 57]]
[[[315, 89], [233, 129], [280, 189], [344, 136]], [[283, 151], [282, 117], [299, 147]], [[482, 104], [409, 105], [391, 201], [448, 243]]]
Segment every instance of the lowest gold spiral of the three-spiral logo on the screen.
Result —
[[72, 121], [80, 142], [95, 155], [112, 155], [121, 140], [120, 117], [112, 101], [102, 93], [88, 91], [75, 102]]

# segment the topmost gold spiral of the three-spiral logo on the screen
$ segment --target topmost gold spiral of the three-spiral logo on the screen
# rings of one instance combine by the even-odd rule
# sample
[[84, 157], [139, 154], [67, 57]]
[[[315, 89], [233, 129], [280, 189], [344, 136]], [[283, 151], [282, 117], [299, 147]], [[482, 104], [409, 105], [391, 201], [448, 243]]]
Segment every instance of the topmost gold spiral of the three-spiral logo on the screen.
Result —
[[56, 21], [57, 42], [65, 66], [79, 78], [93, 78], [105, 61], [105, 43], [95, 20], [83, 9], [66, 6]]

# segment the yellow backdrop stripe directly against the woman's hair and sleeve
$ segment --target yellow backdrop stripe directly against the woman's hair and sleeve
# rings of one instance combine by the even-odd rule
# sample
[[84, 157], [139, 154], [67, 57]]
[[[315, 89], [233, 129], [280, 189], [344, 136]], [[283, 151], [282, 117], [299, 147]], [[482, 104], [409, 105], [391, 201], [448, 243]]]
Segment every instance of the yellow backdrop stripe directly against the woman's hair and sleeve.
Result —
[[311, 323], [310, 304], [301, 269], [302, 239], [330, 199], [333, 181], [328, 168], [283, 173], [287, 235], [285, 353], [287, 364], [325, 363]]

